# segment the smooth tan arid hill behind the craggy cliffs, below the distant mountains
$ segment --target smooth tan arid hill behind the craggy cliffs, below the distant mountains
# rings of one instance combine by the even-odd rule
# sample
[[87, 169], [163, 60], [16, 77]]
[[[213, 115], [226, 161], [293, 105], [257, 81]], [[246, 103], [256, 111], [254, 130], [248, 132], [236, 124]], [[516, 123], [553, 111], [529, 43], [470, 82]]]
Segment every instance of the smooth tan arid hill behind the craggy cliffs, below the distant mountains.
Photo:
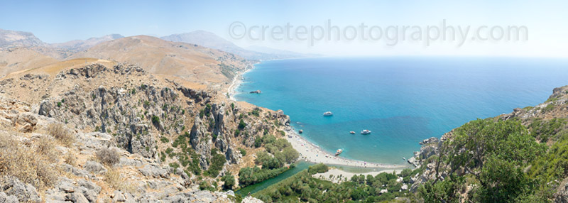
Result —
[[129, 62], [158, 75], [186, 79], [209, 88], [227, 84], [249, 62], [244, 58], [188, 43], [173, 43], [146, 35], [100, 43], [70, 58], [94, 57]]

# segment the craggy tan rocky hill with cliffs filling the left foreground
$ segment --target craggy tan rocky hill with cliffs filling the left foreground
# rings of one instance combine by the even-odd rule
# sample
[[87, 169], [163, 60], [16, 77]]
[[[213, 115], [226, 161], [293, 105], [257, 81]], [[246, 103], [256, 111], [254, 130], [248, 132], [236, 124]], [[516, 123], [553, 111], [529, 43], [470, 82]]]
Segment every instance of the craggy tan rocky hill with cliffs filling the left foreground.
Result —
[[228, 177], [290, 122], [137, 65], [87, 63], [0, 81], [0, 199], [234, 202]]

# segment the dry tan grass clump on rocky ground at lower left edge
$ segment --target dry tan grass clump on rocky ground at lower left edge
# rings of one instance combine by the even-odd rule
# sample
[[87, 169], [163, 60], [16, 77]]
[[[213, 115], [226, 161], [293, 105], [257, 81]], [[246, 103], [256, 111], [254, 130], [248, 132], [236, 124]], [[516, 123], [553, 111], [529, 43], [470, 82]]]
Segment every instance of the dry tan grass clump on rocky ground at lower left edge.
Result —
[[0, 134], [0, 175], [18, 177], [22, 182], [43, 189], [55, 184], [59, 172], [43, 153]]

